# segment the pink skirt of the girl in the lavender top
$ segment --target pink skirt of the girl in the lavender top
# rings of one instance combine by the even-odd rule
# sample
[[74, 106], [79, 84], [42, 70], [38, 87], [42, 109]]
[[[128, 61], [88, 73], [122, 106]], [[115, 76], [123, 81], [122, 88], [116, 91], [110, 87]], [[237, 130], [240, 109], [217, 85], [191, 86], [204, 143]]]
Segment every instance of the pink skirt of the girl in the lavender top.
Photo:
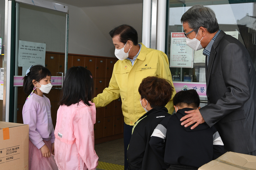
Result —
[[52, 154], [52, 144], [51, 141], [43, 142], [50, 150], [50, 157], [43, 157], [40, 149], [37, 149], [36, 146], [29, 140], [29, 151], [28, 151], [28, 169], [29, 170], [58, 170], [58, 167], [54, 160], [54, 155]]

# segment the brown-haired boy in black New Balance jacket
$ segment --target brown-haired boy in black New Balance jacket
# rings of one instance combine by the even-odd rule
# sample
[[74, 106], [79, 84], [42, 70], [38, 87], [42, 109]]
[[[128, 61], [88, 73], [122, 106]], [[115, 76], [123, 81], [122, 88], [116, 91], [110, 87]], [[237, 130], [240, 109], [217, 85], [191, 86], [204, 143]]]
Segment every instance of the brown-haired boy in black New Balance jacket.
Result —
[[127, 150], [127, 170], [162, 170], [149, 146], [150, 136], [155, 127], [170, 116], [165, 105], [172, 97], [170, 82], [158, 77], [147, 77], [139, 86], [140, 103], [147, 112], [135, 123]]

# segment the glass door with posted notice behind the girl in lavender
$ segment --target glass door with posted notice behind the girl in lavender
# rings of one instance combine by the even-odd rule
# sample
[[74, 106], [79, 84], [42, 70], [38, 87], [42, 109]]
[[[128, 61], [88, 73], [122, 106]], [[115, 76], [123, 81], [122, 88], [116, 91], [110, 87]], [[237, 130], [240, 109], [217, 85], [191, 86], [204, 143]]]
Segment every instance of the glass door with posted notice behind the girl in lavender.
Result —
[[12, 0], [11, 6], [9, 17], [14, 31], [9, 38], [12, 42], [10, 51], [14, 52], [9, 54], [10, 66], [5, 66], [6, 72], [10, 73], [10, 96], [9, 100], [6, 98], [5, 120], [23, 123], [22, 108], [27, 98], [22, 88], [23, 77], [31, 65], [40, 64], [52, 73], [53, 89], [46, 96], [51, 102], [53, 122], [56, 122], [62, 73], [67, 68], [68, 6], [27, 0]]

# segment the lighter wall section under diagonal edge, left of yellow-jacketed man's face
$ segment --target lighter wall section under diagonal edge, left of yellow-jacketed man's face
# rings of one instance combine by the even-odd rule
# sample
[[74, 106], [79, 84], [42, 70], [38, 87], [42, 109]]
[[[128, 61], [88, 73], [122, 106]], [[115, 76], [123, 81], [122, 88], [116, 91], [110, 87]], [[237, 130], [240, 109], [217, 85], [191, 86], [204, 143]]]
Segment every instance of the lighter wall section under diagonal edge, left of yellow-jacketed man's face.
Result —
[[114, 57], [114, 46], [82, 9], [69, 6], [68, 53]]

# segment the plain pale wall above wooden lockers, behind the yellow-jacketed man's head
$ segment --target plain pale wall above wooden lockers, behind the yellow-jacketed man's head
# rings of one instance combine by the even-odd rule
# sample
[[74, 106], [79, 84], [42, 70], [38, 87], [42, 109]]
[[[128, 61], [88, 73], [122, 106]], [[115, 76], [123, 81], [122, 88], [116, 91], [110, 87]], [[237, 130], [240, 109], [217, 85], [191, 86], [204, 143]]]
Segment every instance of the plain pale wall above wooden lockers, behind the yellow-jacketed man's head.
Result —
[[84, 8], [68, 6], [70, 54], [115, 57], [108, 33], [121, 24], [133, 26], [138, 32], [138, 42], [142, 41], [142, 3]]

